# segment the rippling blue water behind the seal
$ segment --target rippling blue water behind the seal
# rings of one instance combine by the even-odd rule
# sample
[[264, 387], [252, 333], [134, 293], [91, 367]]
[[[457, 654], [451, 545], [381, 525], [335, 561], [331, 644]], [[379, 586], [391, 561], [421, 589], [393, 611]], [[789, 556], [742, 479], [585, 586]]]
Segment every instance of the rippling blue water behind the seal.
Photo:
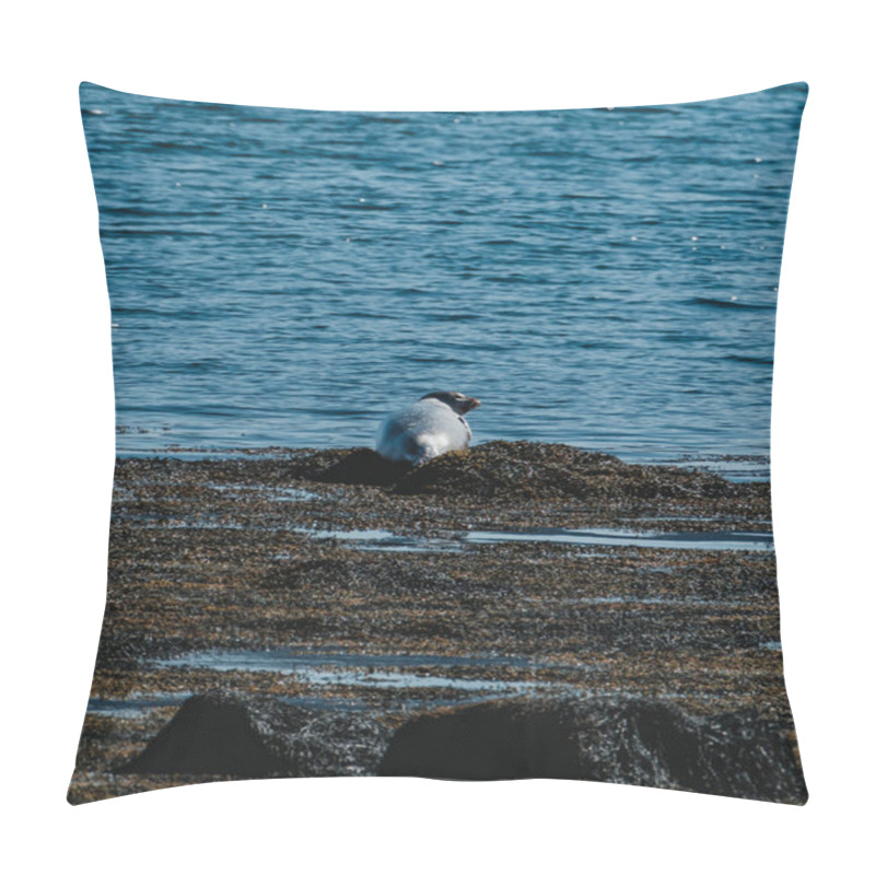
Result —
[[370, 445], [435, 388], [476, 442], [765, 455], [806, 89], [319, 113], [82, 88], [119, 453]]

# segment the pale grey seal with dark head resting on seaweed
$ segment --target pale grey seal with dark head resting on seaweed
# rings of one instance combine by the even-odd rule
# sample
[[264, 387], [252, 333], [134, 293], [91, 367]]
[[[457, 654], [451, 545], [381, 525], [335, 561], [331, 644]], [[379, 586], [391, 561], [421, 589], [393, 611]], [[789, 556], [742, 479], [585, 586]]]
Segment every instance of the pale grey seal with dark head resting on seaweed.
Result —
[[441, 453], [466, 450], [471, 430], [464, 413], [479, 406], [477, 398], [460, 392], [430, 392], [386, 419], [377, 433], [376, 452], [390, 462], [424, 465]]

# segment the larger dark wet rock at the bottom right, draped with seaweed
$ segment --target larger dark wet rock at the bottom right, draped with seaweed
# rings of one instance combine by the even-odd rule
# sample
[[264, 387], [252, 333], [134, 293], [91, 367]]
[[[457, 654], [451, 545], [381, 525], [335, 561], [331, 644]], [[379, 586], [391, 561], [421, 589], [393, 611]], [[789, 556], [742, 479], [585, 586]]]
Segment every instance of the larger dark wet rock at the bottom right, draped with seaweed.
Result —
[[395, 734], [380, 774], [565, 778], [804, 804], [792, 745], [754, 711], [699, 718], [642, 698], [487, 702]]

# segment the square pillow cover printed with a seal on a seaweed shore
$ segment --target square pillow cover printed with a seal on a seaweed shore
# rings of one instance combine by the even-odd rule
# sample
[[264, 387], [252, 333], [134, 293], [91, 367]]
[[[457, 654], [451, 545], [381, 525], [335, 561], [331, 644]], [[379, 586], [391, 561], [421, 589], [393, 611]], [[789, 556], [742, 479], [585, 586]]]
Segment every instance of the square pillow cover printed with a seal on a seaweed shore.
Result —
[[361, 774], [804, 803], [768, 446], [806, 94], [83, 83], [117, 460], [70, 802]]

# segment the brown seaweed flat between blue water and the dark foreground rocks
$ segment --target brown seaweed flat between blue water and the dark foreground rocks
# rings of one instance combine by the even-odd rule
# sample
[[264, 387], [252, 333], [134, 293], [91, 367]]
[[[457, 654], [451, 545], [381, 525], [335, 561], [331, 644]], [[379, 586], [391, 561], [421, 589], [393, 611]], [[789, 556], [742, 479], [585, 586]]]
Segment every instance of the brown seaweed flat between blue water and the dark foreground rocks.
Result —
[[[255, 712], [267, 697], [359, 714], [369, 738], [442, 709], [570, 697], [686, 721], [756, 712], [792, 745], [772, 550], [538, 537], [713, 547], [770, 520], [769, 483], [565, 445], [493, 442], [415, 470], [361, 448], [120, 457], [71, 802], [209, 780], [126, 770], [179, 702], [217, 691]], [[342, 537], [374, 530], [395, 540]]]

